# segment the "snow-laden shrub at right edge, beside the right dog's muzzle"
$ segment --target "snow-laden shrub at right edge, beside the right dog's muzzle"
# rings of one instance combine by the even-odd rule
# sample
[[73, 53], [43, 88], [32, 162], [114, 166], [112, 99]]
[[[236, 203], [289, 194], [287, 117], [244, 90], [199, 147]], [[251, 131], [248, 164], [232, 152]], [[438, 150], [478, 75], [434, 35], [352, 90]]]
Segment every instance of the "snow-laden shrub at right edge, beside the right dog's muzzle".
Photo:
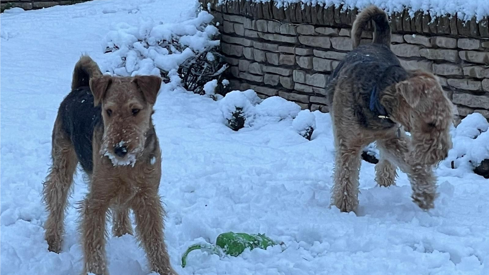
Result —
[[443, 164], [452, 169], [473, 171], [484, 160], [489, 159], [489, 123], [479, 113], [462, 119], [451, 131], [453, 148], [448, 151]]

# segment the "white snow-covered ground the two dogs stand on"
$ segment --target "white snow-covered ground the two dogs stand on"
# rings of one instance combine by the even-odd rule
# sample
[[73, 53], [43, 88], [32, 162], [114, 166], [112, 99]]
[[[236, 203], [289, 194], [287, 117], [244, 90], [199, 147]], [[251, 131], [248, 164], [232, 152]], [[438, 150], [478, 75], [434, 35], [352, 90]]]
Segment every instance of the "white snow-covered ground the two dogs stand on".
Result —
[[[193, 0], [93, 1], [1, 15], [0, 268], [5, 274], [82, 270], [73, 207], [87, 191], [82, 173], [70, 198], [60, 254], [47, 250], [40, 195], [53, 122], [80, 54], [106, 62], [103, 41], [121, 22], [137, 26], [141, 18], [178, 23], [192, 17]], [[234, 132], [223, 123], [219, 101], [175, 87], [163, 85], [153, 118], [163, 150], [166, 242], [180, 274], [489, 274], [489, 180], [466, 166], [440, 164], [436, 207], [424, 212], [411, 202], [405, 174], [397, 186], [380, 188], [374, 166], [363, 162], [358, 213], [340, 213], [329, 206], [334, 146], [328, 114], [314, 112], [312, 141], [297, 133], [291, 118]], [[269, 108], [273, 104], [257, 107], [270, 115]], [[467, 138], [469, 132], [457, 135]], [[287, 247], [224, 258], [194, 251], [180, 267], [188, 245], [213, 242], [231, 230], [266, 233]], [[150, 273], [130, 235], [109, 237], [107, 252], [111, 274]]]

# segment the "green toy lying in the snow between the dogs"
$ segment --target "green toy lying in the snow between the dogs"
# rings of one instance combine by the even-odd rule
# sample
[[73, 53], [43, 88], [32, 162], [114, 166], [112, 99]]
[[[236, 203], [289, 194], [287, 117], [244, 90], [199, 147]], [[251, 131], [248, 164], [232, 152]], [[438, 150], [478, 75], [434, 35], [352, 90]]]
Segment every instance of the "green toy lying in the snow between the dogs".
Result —
[[196, 243], [190, 245], [182, 255], [182, 267], [185, 267], [187, 264], [186, 258], [188, 253], [196, 249], [207, 251], [211, 254], [217, 254], [219, 256], [230, 255], [235, 257], [241, 254], [246, 248], [250, 248], [250, 250], [255, 248], [267, 249], [267, 247], [275, 244], [277, 244], [277, 242], [265, 236], [265, 234], [222, 233], [217, 236], [215, 246], [210, 243]]

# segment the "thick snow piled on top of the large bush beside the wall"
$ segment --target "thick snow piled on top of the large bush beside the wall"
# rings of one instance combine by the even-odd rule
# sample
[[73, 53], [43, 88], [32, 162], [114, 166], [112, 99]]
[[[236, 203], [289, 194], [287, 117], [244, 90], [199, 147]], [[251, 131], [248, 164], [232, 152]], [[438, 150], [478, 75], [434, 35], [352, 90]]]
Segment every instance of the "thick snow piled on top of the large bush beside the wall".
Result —
[[103, 41], [108, 57], [102, 70], [111, 75], [158, 75], [177, 70], [188, 58], [219, 45], [213, 16], [202, 11], [181, 23], [139, 19], [137, 26], [116, 24]]

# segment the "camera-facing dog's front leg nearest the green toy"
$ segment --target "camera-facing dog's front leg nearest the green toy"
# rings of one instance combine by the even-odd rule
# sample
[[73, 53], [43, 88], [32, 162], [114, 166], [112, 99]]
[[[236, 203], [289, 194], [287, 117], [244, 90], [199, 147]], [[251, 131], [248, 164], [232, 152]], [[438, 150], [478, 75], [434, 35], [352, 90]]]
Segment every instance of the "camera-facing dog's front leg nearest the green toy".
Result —
[[148, 256], [151, 269], [161, 275], [176, 275], [170, 265], [163, 236], [165, 211], [158, 196], [158, 189], [141, 190], [133, 200], [136, 233]]

